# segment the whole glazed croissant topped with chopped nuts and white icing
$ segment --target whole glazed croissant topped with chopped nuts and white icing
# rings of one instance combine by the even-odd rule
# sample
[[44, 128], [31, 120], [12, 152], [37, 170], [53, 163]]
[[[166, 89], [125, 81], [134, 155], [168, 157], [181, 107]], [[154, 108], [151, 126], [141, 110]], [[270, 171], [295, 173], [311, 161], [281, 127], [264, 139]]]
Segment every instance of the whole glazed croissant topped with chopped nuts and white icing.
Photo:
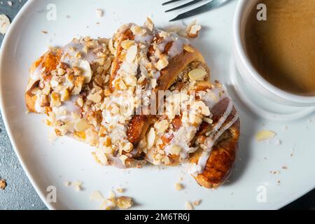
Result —
[[183, 165], [201, 186], [230, 174], [239, 118], [201, 53], [186, 38], [124, 25], [111, 39], [74, 39], [31, 66], [29, 111], [46, 113], [55, 136], [96, 146], [102, 165]]

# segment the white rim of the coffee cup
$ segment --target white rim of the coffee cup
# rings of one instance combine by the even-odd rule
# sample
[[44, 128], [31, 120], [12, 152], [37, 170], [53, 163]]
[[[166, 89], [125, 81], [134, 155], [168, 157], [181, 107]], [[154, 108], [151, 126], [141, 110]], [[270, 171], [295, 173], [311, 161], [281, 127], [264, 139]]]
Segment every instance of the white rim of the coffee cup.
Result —
[[[258, 1], [258, 0], [257, 0]], [[239, 0], [237, 3], [237, 8], [235, 11], [234, 22], [233, 22], [233, 38], [235, 42], [235, 48], [237, 50], [237, 56], [239, 57], [241, 63], [245, 66], [246, 70], [249, 71], [251, 76], [258, 82], [262, 87], [266, 90], [272, 92], [273, 94], [281, 97], [282, 99], [286, 99], [290, 102], [298, 102], [302, 104], [314, 104], [315, 96], [302, 96], [299, 94], [293, 94], [290, 92], [286, 92], [285, 90], [281, 90], [279, 87], [272, 85], [265, 78], [263, 78], [260, 73], [253, 67], [253, 64], [250, 62], [250, 59], [245, 53], [245, 46], [241, 41], [241, 20], [244, 14], [244, 8], [247, 3], [250, 1], [247, 0]]]

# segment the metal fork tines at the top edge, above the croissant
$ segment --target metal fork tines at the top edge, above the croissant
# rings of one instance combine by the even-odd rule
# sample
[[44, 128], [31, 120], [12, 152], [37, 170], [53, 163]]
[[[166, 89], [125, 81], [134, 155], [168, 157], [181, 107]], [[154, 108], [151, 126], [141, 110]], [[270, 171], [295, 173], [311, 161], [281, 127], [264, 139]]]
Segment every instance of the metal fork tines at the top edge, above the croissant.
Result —
[[[165, 6], [165, 5], [169, 4], [169, 3], [173, 3], [173, 2], [176, 2], [176, 1], [182, 1], [182, 0], [167, 1], [165, 3], [162, 3], [162, 6]], [[180, 9], [180, 8], [185, 8], [187, 6], [191, 6], [191, 5], [193, 5], [195, 3], [198, 3], [200, 1], [204, 1], [204, 0], [193, 0], [193, 1], [190, 1], [188, 3], [183, 4], [181, 6], [177, 6], [175, 8], [171, 8], [169, 10], [166, 10], [165, 13], [170, 12], [172, 10], [177, 10], [177, 9]], [[200, 13], [207, 12], [207, 11], [213, 9], [213, 8], [218, 8], [219, 6], [222, 6], [227, 1], [229, 1], [229, 0], [212, 0], [209, 3], [204, 4], [203, 6], [194, 8], [193, 10], [189, 10], [186, 13], [181, 13], [180, 15], [177, 15], [176, 18], [174, 18], [172, 20], [169, 20], [169, 22], [173, 22], [173, 21], [176, 21], [176, 20], [183, 20], [183, 19], [188, 18], [190, 16], [198, 15]]]

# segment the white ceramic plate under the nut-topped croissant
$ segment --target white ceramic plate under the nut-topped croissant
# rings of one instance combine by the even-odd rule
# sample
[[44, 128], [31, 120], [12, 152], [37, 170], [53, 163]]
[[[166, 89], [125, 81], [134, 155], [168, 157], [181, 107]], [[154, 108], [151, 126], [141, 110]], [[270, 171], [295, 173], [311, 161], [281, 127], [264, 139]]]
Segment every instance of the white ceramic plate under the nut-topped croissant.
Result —
[[[241, 116], [239, 155], [229, 183], [218, 190], [200, 188], [179, 167], [100, 167], [92, 159], [89, 146], [66, 137], [50, 144], [51, 130], [42, 118], [25, 114], [24, 90], [31, 62], [48, 45], [64, 45], [75, 36], [109, 37], [123, 23], [142, 24], [147, 15], [158, 27], [165, 27], [175, 15], [164, 13], [168, 7], [161, 6], [162, 0], [55, 0], [57, 20], [49, 21], [46, 8], [50, 2], [28, 1], [22, 8], [3, 41], [0, 66], [1, 111], [8, 134], [25, 172], [48, 208], [98, 209], [99, 204], [89, 200], [94, 190], [107, 195], [109, 190], [122, 187], [126, 189], [124, 195], [137, 202], [133, 209], [183, 209], [185, 201], [200, 199], [202, 203], [196, 209], [279, 209], [314, 188], [315, 120], [311, 123], [309, 116], [290, 122], [268, 121], [255, 116], [235, 94], [238, 86], [234, 87], [230, 78], [230, 53], [237, 1], [198, 15], [202, 35], [193, 43], [209, 62], [212, 77], [228, 86]], [[103, 18], [97, 17], [97, 8], [104, 9]], [[195, 18], [185, 22], [192, 20]], [[48, 34], [43, 34], [43, 30]], [[276, 138], [255, 142], [255, 133], [261, 129], [273, 130]], [[288, 169], [282, 169], [283, 166]], [[273, 171], [280, 173], [270, 174]], [[186, 188], [176, 191], [174, 184], [181, 176]], [[80, 192], [64, 186], [65, 181], [77, 180], [83, 181]], [[56, 186], [57, 203], [46, 202], [48, 186]], [[257, 200], [264, 199], [260, 197], [263, 193], [265, 202]]]

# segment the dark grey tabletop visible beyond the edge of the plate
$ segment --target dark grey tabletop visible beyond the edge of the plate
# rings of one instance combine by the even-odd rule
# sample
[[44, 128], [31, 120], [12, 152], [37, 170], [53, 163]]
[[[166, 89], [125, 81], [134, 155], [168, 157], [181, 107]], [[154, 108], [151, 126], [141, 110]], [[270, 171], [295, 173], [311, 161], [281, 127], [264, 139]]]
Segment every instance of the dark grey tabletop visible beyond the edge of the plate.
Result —
[[[0, 14], [5, 14], [13, 20], [27, 0], [11, 0], [11, 6], [6, 0], [0, 0]], [[66, 0], [68, 1], [68, 0]], [[3, 35], [0, 34], [0, 45]], [[0, 179], [5, 179], [8, 186], [0, 190], [0, 209], [47, 209], [38, 197], [25, 175], [16, 157], [10, 139], [6, 134], [0, 113]], [[284, 209], [311, 209], [315, 207], [315, 190], [299, 200], [289, 204]]]

